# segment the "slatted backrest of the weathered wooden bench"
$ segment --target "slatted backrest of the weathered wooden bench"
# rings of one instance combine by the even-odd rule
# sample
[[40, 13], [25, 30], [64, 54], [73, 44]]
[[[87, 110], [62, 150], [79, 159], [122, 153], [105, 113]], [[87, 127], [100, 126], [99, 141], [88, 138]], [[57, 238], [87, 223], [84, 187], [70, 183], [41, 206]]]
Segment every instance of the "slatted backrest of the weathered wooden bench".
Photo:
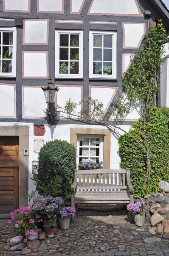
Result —
[[130, 180], [130, 169], [77, 170], [78, 191], [126, 190]]

